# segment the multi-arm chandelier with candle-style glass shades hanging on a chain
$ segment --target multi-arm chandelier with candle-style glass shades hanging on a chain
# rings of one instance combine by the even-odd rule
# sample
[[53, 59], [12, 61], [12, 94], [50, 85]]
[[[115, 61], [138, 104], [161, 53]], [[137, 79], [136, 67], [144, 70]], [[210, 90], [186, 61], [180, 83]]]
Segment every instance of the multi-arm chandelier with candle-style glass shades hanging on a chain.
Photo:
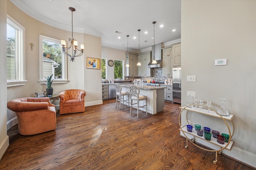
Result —
[[[65, 54], [65, 55], [67, 55], [67, 56], [69, 56], [70, 57], [70, 61], [74, 61], [75, 60], [75, 57], [79, 57], [79, 56], [81, 56], [81, 55], [83, 55], [83, 53], [84, 53], [84, 45], [82, 44], [81, 45], [81, 50], [79, 50], [78, 48], [77, 48], [77, 40], [76, 39], [74, 39], [73, 38], [73, 12], [74, 11], [76, 11], [76, 9], [75, 8], [72, 8], [72, 7], [69, 7], [68, 8], [70, 11], [71, 11], [71, 13], [72, 13], [72, 38], [69, 38], [68, 40], [70, 41], [70, 46], [69, 47], [66, 47], [66, 41], [65, 40], [61, 40], [61, 45], [62, 45], [62, 52]], [[70, 55], [70, 54], [68, 54], [68, 49], [70, 49], [72, 47], [72, 54]], [[79, 54], [76, 54], [77, 52], [79, 52], [80, 51], [80, 53]]]

